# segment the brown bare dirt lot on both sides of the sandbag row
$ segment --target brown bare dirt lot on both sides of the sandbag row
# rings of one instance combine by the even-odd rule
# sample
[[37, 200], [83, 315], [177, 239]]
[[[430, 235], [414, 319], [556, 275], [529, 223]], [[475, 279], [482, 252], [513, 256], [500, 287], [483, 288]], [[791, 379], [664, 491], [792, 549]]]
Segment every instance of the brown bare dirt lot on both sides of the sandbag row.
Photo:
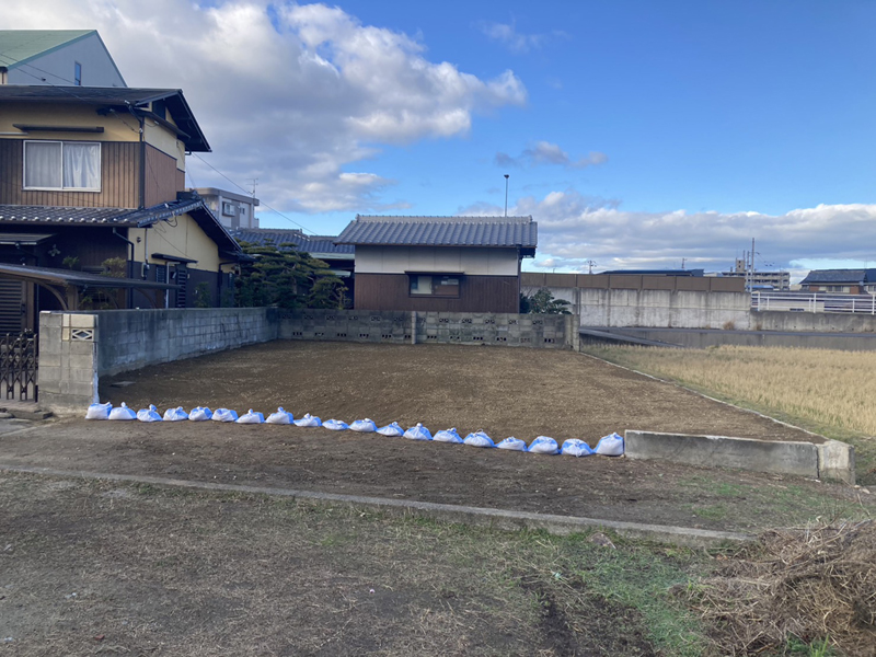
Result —
[[[534, 349], [276, 342], [127, 372], [102, 397], [134, 407], [284, 405], [494, 439], [591, 445], [626, 428], [800, 439], [795, 429], [601, 361]], [[84, 411], [84, 410], [83, 410]], [[65, 420], [0, 436], [0, 463], [174, 476], [707, 529], [861, 514], [846, 486], [665, 462], [541, 457], [351, 431], [219, 423]]]

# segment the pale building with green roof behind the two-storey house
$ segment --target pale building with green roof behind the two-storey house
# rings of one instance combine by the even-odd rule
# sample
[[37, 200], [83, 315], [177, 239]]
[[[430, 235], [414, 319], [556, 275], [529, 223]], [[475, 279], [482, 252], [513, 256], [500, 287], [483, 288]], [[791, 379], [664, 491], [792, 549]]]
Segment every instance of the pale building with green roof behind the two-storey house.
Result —
[[0, 84], [127, 87], [95, 30], [0, 30]]

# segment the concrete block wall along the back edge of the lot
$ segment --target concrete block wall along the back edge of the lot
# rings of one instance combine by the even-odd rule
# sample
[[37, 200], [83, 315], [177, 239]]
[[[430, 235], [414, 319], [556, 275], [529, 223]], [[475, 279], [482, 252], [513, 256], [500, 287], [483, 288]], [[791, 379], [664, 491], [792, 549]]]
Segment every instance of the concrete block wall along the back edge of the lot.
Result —
[[285, 339], [577, 348], [578, 338], [574, 315], [295, 310], [279, 323]]

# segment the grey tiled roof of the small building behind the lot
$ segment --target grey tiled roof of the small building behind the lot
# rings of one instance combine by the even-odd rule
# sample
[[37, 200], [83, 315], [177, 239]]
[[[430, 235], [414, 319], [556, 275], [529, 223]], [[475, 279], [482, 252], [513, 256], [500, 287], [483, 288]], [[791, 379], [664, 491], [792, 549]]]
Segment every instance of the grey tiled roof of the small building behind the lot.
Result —
[[355, 245], [494, 246], [534, 250], [532, 217], [357, 216], [336, 240]]

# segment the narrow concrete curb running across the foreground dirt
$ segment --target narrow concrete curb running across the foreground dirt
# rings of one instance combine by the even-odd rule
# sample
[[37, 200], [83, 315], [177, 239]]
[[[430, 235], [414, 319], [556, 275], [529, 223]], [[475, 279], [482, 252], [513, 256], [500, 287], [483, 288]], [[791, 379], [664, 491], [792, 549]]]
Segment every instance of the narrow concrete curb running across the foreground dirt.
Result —
[[670, 543], [685, 548], [716, 548], [726, 543], [744, 543], [754, 539], [753, 535], [729, 532], [670, 527], [662, 525], [641, 525], [637, 522], [619, 522], [614, 520], [596, 520], [570, 516], [553, 516], [529, 511], [507, 511], [481, 507], [457, 506], [452, 504], [435, 504], [407, 499], [387, 499], [383, 497], [362, 497], [359, 495], [338, 495], [334, 493], [314, 493], [292, 488], [273, 488], [267, 486], [244, 486], [235, 484], [214, 484], [210, 482], [193, 482], [188, 480], [165, 479], [159, 476], [140, 476], [134, 474], [113, 474], [103, 472], [83, 472], [55, 470], [34, 465], [8, 465], [0, 463], [0, 472], [18, 472], [48, 476], [65, 476], [112, 482], [129, 482], [152, 484], [157, 486], [175, 486], [200, 491], [221, 491], [231, 493], [250, 493], [291, 497], [316, 504], [347, 504], [356, 508], [379, 509], [394, 516], [419, 516], [443, 522], [460, 522], [492, 529], [520, 530], [542, 529], [556, 535], [567, 535], [590, 529], [607, 529], [630, 539], [641, 539], [659, 543]]

